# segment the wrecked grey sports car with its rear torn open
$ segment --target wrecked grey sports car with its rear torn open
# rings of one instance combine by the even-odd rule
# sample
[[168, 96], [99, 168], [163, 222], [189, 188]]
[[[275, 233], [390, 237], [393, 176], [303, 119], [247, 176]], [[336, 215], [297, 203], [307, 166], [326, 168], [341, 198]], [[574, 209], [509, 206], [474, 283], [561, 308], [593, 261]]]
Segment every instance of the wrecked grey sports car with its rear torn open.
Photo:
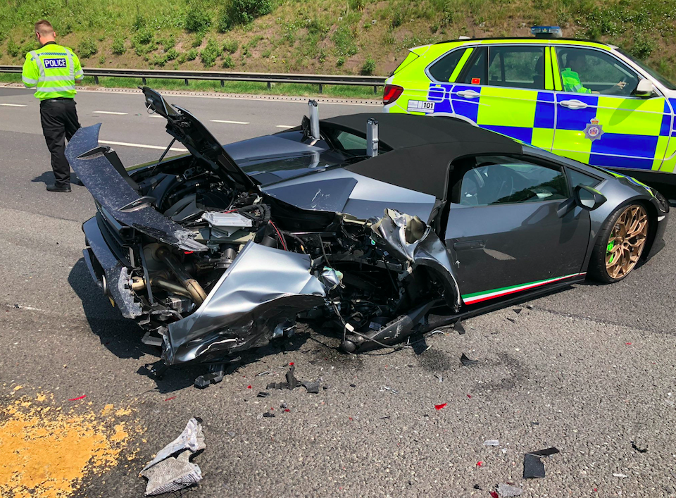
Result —
[[189, 154], [126, 170], [94, 125], [67, 155], [96, 201], [89, 270], [169, 365], [299, 319], [336, 320], [345, 351], [395, 344], [587, 271], [620, 280], [660, 247], [649, 187], [453, 118], [319, 120], [311, 101], [299, 127], [222, 146], [143, 92]]

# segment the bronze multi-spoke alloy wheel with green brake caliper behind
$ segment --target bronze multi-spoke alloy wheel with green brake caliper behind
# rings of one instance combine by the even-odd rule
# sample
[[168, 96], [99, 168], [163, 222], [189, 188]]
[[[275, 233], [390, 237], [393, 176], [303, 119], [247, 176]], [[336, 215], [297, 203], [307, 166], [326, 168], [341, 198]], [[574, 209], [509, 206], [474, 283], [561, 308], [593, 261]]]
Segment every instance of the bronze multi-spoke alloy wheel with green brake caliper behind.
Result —
[[648, 213], [639, 204], [628, 206], [615, 222], [606, 247], [606, 272], [623, 278], [639, 262], [648, 235]]

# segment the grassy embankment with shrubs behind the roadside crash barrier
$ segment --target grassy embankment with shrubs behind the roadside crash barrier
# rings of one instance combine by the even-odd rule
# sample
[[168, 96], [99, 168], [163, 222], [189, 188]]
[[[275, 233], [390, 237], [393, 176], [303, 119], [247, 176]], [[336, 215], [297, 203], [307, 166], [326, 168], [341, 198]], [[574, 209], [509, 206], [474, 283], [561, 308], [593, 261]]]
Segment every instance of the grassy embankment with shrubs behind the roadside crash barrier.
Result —
[[[530, 36], [534, 24], [622, 46], [676, 79], [672, 0], [5, 0], [0, 64], [23, 63], [47, 18], [83, 66], [386, 75], [406, 49], [459, 35]], [[1, 80], [11, 80], [4, 75]], [[139, 82], [101, 78], [101, 85]], [[184, 89], [181, 81], [151, 81]], [[190, 89], [316, 94], [311, 85], [191, 82]], [[369, 87], [325, 87], [373, 98]]]

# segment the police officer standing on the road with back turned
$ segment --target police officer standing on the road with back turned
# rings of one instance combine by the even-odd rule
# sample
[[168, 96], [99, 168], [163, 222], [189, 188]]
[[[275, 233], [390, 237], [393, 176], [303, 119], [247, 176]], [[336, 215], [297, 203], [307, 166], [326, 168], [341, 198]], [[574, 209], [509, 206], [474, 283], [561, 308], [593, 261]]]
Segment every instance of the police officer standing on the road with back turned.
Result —
[[80, 128], [75, 110], [75, 82], [84, 74], [80, 60], [68, 47], [56, 44], [56, 32], [49, 21], [35, 23], [35, 36], [42, 45], [26, 54], [21, 74], [26, 87], [37, 87], [42, 133], [51, 153], [56, 182], [49, 192], [70, 192], [70, 164], [65, 158], [65, 139]]

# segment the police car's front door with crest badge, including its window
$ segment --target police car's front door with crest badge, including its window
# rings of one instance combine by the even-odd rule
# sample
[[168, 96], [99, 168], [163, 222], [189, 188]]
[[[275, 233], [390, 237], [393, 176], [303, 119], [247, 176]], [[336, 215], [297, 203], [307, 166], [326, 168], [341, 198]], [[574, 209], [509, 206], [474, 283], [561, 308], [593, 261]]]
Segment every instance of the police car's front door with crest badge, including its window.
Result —
[[[658, 170], [671, 127], [665, 98], [634, 97], [641, 76], [611, 51], [580, 46], [554, 50], [559, 69], [555, 77], [572, 65], [580, 85], [577, 91], [559, 85], [556, 92], [552, 151], [594, 166]], [[622, 81], [625, 85], [618, 87]]]

